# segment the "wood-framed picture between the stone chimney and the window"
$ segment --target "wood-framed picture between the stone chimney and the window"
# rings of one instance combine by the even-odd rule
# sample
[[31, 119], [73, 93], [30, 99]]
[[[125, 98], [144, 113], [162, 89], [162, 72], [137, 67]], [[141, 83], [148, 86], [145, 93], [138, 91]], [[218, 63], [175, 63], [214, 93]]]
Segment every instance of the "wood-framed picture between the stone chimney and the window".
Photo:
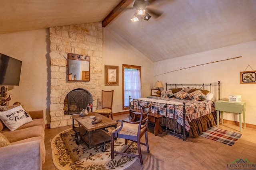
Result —
[[105, 65], [105, 86], [119, 85], [118, 66]]

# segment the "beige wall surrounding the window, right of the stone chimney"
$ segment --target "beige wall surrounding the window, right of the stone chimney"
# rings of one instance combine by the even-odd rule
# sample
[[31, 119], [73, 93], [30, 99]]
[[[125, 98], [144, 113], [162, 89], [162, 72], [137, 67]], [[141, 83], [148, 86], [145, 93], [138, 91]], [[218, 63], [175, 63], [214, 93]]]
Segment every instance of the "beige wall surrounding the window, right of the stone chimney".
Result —
[[[153, 62], [136, 48], [122, 39], [108, 27], [103, 28], [103, 68], [104, 65], [119, 66], [119, 85], [105, 86], [103, 90], [114, 90], [113, 113], [122, 110], [122, 64], [141, 66], [142, 97], [150, 96], [152, 87]], [[105, 75], [105, 73], [104, 73]]]

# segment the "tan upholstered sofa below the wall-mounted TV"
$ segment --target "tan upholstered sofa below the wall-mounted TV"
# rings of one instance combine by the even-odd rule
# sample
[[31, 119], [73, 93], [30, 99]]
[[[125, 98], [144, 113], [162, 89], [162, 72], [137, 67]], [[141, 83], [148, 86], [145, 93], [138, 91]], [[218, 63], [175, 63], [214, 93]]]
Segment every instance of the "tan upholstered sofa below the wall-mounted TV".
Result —
[[[1, 107], [0, 115], [4, 113]], [[32, 120], [12, 131], [0, 117], [0, 135], [2, 141], [6, 139], [6, 145], [0, 146], [0, 170], [42, 170], [46, 154], [44, 114], [42, 110], [27, 113]]]

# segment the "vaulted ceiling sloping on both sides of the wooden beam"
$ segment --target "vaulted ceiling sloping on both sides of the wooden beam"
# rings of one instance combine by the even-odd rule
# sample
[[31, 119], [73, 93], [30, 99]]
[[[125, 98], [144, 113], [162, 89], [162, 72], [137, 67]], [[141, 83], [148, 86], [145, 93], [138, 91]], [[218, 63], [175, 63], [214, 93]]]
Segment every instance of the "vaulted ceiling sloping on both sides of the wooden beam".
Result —
[[[0, 34], [103, 21], [120, 2], [0, 0]], [[136, 23], [132, 0], [122, 2], [105, 28], [154, 62], [256, 40], [256, 0], [155, 0], [162, 16]]]

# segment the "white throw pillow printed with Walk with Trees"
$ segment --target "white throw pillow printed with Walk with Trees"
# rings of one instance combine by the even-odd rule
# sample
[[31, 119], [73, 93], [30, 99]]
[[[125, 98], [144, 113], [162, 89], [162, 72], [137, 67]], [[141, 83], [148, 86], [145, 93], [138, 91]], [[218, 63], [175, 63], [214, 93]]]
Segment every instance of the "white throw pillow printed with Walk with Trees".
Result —
[[0, 119], [3, 121], [4, 125], [10, 129], [10, 131], [14, 131], [20, 126], [33, 121], [22, 106], [17, 106], [7, 111], [1, 111]]

